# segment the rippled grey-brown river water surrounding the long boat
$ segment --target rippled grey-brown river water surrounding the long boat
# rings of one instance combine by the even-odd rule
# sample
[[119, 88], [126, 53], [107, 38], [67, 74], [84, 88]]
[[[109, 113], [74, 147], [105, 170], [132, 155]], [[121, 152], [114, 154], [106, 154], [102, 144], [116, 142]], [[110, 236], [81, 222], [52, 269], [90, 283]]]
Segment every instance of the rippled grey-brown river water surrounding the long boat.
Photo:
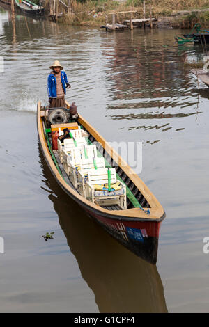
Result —
[[[55, 25], [0, 11], [1, 312], [208, 310], [208, 89], [173, 29]], [[123, 248], [65, 196], [45, 164], [36, 104], [59, 59], [67, 99], [107, 141], [142, 141], [139, 176], [162, 203], [157, 265]], [[54, 240], [42, 234], [54, 231]]]

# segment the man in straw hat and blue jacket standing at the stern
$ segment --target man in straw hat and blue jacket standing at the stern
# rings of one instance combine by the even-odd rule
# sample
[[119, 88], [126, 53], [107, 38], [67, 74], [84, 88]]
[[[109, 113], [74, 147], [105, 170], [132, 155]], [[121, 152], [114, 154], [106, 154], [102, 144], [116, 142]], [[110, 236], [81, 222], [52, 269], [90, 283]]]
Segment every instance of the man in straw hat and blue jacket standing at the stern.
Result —
[[57, 60], [49, 68], [52, 70], [47, 81], [49, 108], [65, 107], [66, 88], [71, 87], [68, 77]]

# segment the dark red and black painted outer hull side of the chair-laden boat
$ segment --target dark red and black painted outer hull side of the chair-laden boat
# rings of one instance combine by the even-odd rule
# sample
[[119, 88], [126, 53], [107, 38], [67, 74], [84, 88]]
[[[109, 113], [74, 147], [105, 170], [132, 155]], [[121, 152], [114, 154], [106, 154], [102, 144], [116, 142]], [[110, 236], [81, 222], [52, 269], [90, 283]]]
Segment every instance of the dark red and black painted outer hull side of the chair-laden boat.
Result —
[[[45, 152], [42, 147], [42, 154], [45, 157]], [[47, 158], [45, 157], [47, 166], [54, 175]], [[54, 176], [56, 179], [56, 176]], [[59, 183], [58, 180], [56, 182]], [[106, 230], [111, 237], [114, 237], [119, 243], [125, 248], [130, 250], [135, 255], [141, 257], [141, 259], [155, 264], [157, 262], [157, 249], [158, 249], [158, 238], [160, 232], [161, 221], [136, 221], [134, 218], [126, 218], [124, 216], [118, 216], [117, 218], [111, 213], [102, 214], [97, 210], [84, 205], [83, 202], [79, 201], [76, 197], [72, 196], [62, 184], [59, 183], [63, 191], [70, 196], [77, 204], [84, 209], [86, 214], [93, 218], [104, 230]], [[140, 209], [139, 209], [140, 210]], [[164, 217], [162, 217], [163, 219]]]

